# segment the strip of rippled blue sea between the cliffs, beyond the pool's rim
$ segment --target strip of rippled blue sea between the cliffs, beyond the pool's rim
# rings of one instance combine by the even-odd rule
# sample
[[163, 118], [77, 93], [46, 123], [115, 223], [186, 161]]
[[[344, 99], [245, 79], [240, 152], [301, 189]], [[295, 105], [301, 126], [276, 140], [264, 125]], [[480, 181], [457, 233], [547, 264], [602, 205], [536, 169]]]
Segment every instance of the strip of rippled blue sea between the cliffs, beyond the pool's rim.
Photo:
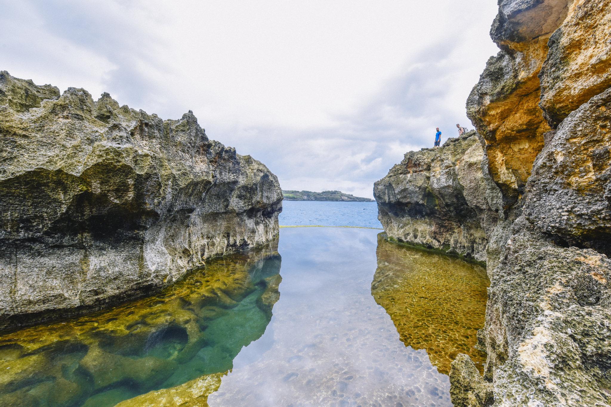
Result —
[[280, 226], [382, 228], [376, 202], [282, 201]]

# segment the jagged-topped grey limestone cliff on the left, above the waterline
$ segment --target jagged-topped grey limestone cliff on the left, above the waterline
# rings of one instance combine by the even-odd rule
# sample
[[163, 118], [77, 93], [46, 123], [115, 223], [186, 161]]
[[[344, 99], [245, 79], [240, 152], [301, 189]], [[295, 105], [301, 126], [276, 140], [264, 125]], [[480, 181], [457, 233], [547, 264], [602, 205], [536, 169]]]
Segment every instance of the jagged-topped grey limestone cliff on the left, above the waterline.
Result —
[[0, 73], [0, 327], [108, 306], [278, 232], [282, 192], [192, 112]]

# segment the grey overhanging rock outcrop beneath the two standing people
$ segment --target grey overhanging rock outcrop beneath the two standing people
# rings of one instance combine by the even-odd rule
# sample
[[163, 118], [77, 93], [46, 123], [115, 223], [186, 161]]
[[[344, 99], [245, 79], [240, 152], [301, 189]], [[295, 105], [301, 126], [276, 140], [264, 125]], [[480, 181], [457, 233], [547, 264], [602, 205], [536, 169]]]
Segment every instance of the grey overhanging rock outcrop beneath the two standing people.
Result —
[[373, 187], [388, 236], [485, 261], [485, 229], [496, 225], [503, 209], [499, 190], [482, 170], [483, 156], [474, 131], [439, 149], [405, 154]]

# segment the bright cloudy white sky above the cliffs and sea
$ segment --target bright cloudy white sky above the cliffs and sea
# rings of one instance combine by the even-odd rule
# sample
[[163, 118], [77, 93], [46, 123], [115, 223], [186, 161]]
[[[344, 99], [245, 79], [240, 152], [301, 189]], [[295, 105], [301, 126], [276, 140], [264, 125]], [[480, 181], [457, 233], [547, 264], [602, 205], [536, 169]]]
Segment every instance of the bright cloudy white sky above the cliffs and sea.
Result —
[[473, 128], [495, 0], [0, 0], [0, 70], [109, 92], [265, 164], [373, 198], [410, 150]]

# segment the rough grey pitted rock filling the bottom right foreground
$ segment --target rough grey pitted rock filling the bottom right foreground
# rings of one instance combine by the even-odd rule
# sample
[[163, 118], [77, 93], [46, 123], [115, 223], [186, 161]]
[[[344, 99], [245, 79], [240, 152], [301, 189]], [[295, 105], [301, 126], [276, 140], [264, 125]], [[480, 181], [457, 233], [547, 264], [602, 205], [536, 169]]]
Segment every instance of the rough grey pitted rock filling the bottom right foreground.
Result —
[[608, 406], [611, 261], [520, 229], [488, 292], [485, 378], [496, 405]]

